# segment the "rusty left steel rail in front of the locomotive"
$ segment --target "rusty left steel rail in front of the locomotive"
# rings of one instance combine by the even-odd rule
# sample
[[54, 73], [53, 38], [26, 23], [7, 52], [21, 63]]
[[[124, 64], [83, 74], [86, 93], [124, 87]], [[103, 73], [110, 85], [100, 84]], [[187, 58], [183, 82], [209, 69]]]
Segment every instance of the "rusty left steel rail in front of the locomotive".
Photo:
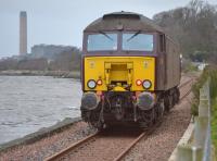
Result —
[[99, 134], [99, 132], [87, 136], [86, 138], [84, 138], [84, 139], [81, 139], [81, 140], [79, 140], [79, 141], [73, 144], [72, 146], [69, 146], [69, 147], [67, 147], [67, 148], [65, 148], [65, 149], [63, 149], [63, 150], [61, 150], [61, 151], [54, 153], [53, 156], [46, 158], [44, 161], [58, 160], [59, 158], [65, 156], [67, 152], [72, 151], [73, 149], [77, 148], [78, 146], [82, 145], [84, 143], [86, 143], [86, 141], [92, 139], [92, 138], [95, 137], [98, 134]]

